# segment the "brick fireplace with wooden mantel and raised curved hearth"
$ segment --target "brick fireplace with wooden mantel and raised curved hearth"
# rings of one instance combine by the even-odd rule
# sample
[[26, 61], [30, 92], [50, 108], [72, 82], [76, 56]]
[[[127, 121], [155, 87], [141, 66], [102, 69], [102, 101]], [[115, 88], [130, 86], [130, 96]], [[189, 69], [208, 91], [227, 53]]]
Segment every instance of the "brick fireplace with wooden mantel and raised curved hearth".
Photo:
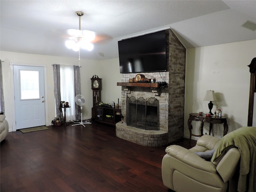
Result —
[[[149, 86], [147, 87], [138, 84], [136, 86], [124, 84], [129, 82], [130, 78], [134, 78], [136, 74], [122, 74], [122, 83], [118, 83], [118, 85], [122, 86], [121, 106], [124, 122], [116, 124], [116, 136], [119, 138], [150, 147], [167, 145], [183, 138], [186, 49], [170, 29], [166, 30], [166, 52], [168, 63], [166, 72], [140, 74], [144, 74], [146, 78], [156, 78], [156, 82], [166, 82], [167, 86], [163, 87], [161, 84], [153, 86], [153, 83], [152, 86], [150, 86], [151, 83], [148, 83]], [[135, 105], [132, 105], [133, 113], [127, 113], [130, 98], [132, 98], [130, 102], [132, 104], [138, 101], [143, 103], [150, 98], [157, 100], [158, 106], [153, 106], [158, 108], [156, 114], [149, 114], [147, 119], [146, 112], [142, 114], [142, 110], [142, 112], [140, 111], [141, 114], [135, 117], [146, 119], [146, 124], [148, 120], [152, 120], [152, 116], [158, 116], [158, 119], [154, 120], [153, 123], [157, 124], [156, 130], [134, 126], [136, 123], [134, 121]], [[144, 101], [140, 98], [143, 98]], [[145, 108], [143, 109], [146, 110]], [[131, 117], [131, 115], [133, 116]], [[129, 122], [130, 120], [133, 121]], [[144, 126], [143, 123], [142, 126]]]

